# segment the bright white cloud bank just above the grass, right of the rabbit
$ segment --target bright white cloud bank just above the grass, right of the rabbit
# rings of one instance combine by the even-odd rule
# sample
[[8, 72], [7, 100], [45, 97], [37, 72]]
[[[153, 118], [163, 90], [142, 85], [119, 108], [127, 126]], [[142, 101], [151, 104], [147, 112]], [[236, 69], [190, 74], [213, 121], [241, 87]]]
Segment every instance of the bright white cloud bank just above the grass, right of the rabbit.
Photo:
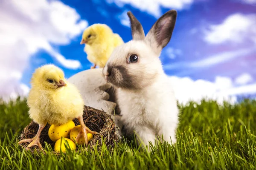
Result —
[[190, 100], [200, 102], [202, 98], [217, 100], [219, 104], [223, 101], [237, 102], [237, 95], [256, 94], [256, 83], [252, 85], [241, 85], [236, 87], [229, 77], [216, 77], [214, 82], [189, 77], [170, 77], [173, 84], [175, 96], [180, 103], [186, 104]]

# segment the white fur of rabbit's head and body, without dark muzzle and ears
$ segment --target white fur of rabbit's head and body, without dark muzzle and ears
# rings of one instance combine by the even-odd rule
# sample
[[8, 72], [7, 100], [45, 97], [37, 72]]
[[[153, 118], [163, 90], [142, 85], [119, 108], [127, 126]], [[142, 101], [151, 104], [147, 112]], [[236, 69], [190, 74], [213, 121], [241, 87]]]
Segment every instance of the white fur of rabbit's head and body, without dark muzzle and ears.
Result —
[[[126, 57], [120, 57], [120, 54], [127, 56], [129, 53], [138, 54], [140, 63], [127, 65]], [[116, 88], [117, 103], [122, 115], [119, 124], [123, 124], [128, 133], [135, 132], [142, 140], [140, 142], [145, 145], [148, 145], [148, 142], [154, 145], [156, 135], [160, 138], [163, 135], [166, 142], [171, 144], [172, 141], [174, 144], [179, 111], [172, 84], [163, 71], [159, 57], [145, 42], [131, 40], [113, 51], [103, 69], [104, 75], [107, 73], [108, 64], [126, 64], [130, 74], [143, 74], [143, 77], [149, 80], [151, 75], [157, 75], [149, 86], [140, 90]]]

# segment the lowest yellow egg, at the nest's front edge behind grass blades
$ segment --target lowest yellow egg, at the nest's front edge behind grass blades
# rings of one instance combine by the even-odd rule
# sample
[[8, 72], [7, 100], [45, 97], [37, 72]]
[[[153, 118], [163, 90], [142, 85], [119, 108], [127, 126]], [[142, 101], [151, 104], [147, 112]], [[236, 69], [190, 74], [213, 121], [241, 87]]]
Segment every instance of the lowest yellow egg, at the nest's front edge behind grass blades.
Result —
[[61, 139], [58, 139], [57, 142], [54, 145], [54, 150], [57, 152], [60, 152], [60, 150], [65, 153], [66, 147], [70, 148], [71, 150], [76, 150], [76, 144], [67, 138], [61, 137]]

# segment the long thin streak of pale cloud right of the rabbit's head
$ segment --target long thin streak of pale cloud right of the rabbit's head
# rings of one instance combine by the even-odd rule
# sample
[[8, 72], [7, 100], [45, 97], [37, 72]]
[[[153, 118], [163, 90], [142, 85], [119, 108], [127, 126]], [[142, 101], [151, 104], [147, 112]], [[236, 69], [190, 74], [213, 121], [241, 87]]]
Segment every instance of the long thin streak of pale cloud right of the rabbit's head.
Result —
[[245, 55], [251, 54], [254, 51], [256, 51], [255, 48], [244, 48], [244, 49], [239, 49], [235, 51], [228, 51], [220, 54], [215, 54], [198, 61], [177, 62], [173, 64], [166, 64], [166, 65], [163, 65], [163, 68], [166, 70], [171, 70], [176, 68], [206, 68], [206, 67], [223, 63], [223, 62], [227, 62], [231, 59], [244, 57]]

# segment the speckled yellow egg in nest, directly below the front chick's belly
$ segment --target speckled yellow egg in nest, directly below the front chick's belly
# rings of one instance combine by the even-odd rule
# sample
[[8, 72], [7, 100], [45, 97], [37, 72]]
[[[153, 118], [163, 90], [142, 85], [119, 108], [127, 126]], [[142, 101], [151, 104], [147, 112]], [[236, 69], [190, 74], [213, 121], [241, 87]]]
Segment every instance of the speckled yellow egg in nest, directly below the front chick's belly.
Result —
[[75, 127], [75, 123], [70, 120], [63, 125], [51, 125], [48, 130], [48, 136], [53, 141], [56, 142], [61, 137], [68, 138], [70, 135], [71, 129]]

